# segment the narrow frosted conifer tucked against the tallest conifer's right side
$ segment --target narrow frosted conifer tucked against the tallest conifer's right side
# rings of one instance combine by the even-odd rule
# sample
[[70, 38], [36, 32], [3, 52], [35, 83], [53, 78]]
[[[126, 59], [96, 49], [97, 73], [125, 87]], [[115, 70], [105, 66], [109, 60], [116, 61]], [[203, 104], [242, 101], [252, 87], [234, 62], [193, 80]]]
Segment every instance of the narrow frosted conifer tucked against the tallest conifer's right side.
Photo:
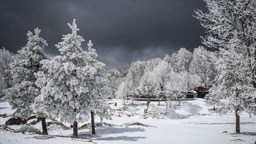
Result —
[[91, 112], [92, 134], [95, 134], [94, 114], [98, 115], [101, 118], [101, 121], [103, 118], [111, 119], [111, 117], [108, 113], [110, 107], [105, 102], [105, 100], [108, 98], [107, 77], [109, 74], [105, 69], [103, 69], [105, 64], [94, 59], [98, 55], [96, 50], [91, 48], [92, 45], [93, 44], [91, 41], [89, 41], [88, 54], [90, 57], [87, 58], [87, 66], [91, 66], [93, 70], [93, 77], [86, 81], [89, 91], [84, 95], [87, 97], [87, 109], [89, 112]]

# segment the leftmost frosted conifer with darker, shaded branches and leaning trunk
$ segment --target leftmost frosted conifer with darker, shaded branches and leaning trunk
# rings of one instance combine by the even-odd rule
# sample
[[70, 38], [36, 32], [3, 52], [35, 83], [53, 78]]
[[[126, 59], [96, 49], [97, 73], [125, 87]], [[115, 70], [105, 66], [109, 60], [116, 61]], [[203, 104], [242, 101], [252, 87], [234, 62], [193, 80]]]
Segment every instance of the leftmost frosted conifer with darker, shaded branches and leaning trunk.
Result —
[[[33, 113], [31, 105], [34, 103], [35, 97], [40, 94], [40, 89], [35, 84], [37, 78], [34, 73], [41, 69], [39, 62], [48, 59], [44, 53], [44, 47], [48, 44], [42, 37], [39, 37], [40, 31], [37, 28], [35, 29], [35, 35], [32, 32], [27, 33], [28, 43], [18, 51], [24, 57], [11, 64], [13, 85], [5, 91], [6, 95], [4, 97], [12, 106], [11, 108], [16, 109], [11, 117], [29, 118]], [[43, 133], [48, 134], [45, 115], [42, 112], [36, 114], [42, 120]]]

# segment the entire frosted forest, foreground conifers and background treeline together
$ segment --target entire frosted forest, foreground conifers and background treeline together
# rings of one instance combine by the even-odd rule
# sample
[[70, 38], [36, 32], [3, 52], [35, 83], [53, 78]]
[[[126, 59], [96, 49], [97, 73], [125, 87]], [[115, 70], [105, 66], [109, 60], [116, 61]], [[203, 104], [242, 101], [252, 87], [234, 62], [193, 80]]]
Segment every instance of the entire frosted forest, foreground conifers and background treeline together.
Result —
[[17, 54], [0, 49], [0, 97], [16, 110], [11, 117], [39, 117], [44, 134], [45, 119], [59, 118], [78, 137], [77, 123], [91, 119], [95, 134], [95, 115], [101, 121], [112, 119], [107, 99], [122, 99], [125, 107], [126, 101], [146, 96], [147, 113], [152, 97], [168, 104], [182, 92], [203, 86], [209, 89], [206, 105], [220, 115], [234, 113], [235, 132], [240, 133], [240, 114], [256, 115], [256, 1], [205, 2], [209, 11], [196, 10], [194, 16], [208, 34], [202, 46], [192, 52], [180, 48], [163, 59], [134, 61], [128, 69], [104, 69], [91, 41], [81, 47], [85, 40], [75, 19], [68, 23], [70, 33], [55, 45], [59, 56], [44, 53], [47, 40], [36, 28], [27, 33], [27, 45]]

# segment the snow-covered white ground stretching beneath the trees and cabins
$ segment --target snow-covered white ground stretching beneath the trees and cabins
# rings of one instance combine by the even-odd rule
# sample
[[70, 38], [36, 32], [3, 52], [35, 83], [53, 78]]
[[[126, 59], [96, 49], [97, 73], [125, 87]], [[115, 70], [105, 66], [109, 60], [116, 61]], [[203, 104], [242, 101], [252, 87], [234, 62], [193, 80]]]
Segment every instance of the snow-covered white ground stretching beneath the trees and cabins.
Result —
[[[117, 106], [114, 103], [117, 102]], [[0, 130], [1, 144], [255, 144], [256, 142], [256, 116], [249, 117], [243, 113], [240, 116], [241, 134], [235, 133], [235, 115], [229, 114], [219, 116], [212, 113], [204, 105], [203, 99], [197, 98], [194, 101], [181, 101], [181, 105], [175, 109], [176, 101], [171, 101], [171, 108], [168, 105], [167, 115], [164, 101], [152, 101], [147, 114], [144, 114], [146, 101], [128, 101], [123, 110], [122, 100], [109, 100], [113, 120], [103, 122], [114, 124], [109, 126], [103, 124], [96, 128], [96, 134], [91, 135], [90, 129], [79, 129], [80, 139], [73, 139], [67, 136], [73, 133], [72, 129], [64, 130], [59, 125], [51, 125], [48, 133], [53, 135], [49, 139], [42, 139], [42, 135], [33, 133], [13, 133], [7, 130]], [[178, 101], [177, 101], [178, 104]], [[10, 105], [0, 99], [0, 114], [14, 112]], [[0, 124], [3, 125], [9, 117], [0, 117]], [[32, 119], [27, 123], [32, 122]], [[47, 120], [50, 122], [50, 120]], [[96, 117], [96, 123], [100, 118]], [[87, 123], [90, 123], [87, 122]], [[128, 123], [142, 123], [144, 125], [129, 125]], [[85, 123], [79, 123], [82, 126]], [[69, 123], [64, 123], [67, 127]], [[147, 125], [147, 126], [145, 126]], [[9, 126], [13, 129], [21, 128], [21, 125]], [[41, 124], [33, 127], [40, 129]], [[226, 131], [227, 133], [223, 133]], [[59, 135], [59, 136], [56, 136]], [[40, 139], [37, 139], [37, 138]]]

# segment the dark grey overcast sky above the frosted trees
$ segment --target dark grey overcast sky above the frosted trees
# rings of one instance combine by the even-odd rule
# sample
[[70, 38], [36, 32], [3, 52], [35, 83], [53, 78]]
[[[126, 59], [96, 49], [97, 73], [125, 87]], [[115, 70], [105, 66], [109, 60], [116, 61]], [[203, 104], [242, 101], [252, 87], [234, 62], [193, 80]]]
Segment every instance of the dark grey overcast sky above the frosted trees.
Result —
[[163, 58], [180, 48], [191, 52], [202, 45], [206, 30], [194, 10], [207, 11], [202, 0], [69, 1], [1, 0], [0, 47], [16, 53], [27, 44], [27, 32], [41, 29], [48, 43], [45, 53], [59, 55], [55, 44], [71, 33], [67, 23], [76, 19], [77, 33], [92, 41], [105, 69], [128, 69], [133, 61]]

